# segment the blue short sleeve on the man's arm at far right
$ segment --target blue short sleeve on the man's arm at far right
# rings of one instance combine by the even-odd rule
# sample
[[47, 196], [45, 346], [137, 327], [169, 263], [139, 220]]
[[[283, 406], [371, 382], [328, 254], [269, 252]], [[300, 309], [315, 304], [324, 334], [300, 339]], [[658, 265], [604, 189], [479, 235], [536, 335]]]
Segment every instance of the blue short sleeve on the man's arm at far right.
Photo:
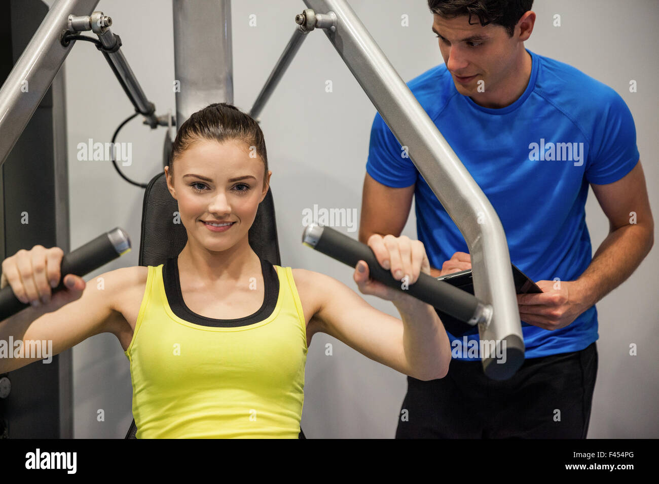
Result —
[[627, 175], [639, 161], [636, 126], [631, 111], [617, 92], [606, 88], [604, 105], [592, 134], [586, 179], [605, 185]]

